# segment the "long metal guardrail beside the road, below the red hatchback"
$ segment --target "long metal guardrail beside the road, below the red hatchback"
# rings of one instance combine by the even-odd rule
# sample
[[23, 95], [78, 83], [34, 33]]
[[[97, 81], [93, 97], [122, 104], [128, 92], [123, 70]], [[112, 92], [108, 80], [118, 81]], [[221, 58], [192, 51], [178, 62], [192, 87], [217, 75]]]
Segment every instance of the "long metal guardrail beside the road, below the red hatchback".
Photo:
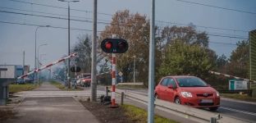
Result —
[[[107, 87], [106, 93], [111, 92], [112, 89]], [[148, 105], [148, 97], [141, 94], [133, 93], [129, 90], [116, 89], [116, 94], [121, 94], [121, 103], [123, 103], [123, 98], [128, 98], [137, 103], [143, 103]], [[176, 103], [170, 103], [160, 99], [155, 99], [155, 108], [174, 114], [176, 116], [185, 117], [191, 121], [197, 121], [200, 123], [211, 122], [211, 123], [249, 123], [249, 121], [241, 120], [231, 116], [225, 116], [222, 114], [204, 111], [199, 108], [188, 107], [184, 105], [179, 105]]]

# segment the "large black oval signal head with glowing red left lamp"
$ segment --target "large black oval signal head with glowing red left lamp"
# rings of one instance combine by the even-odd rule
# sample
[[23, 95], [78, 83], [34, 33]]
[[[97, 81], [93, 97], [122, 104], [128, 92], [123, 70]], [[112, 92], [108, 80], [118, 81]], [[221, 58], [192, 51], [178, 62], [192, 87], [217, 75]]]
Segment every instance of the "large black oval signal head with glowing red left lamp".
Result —
[[103, 39], [101, 48], [103, 52], [107, 53], [124, 53], [128, 50], [129, 45], [125, 39]]

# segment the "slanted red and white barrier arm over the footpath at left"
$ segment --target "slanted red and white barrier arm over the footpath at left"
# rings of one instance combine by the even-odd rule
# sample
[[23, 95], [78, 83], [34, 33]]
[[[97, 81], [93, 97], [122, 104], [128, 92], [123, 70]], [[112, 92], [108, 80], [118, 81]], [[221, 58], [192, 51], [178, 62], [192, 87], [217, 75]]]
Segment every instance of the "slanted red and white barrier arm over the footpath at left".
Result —
[[65, 60], [68, 59], [68, 58], [75, 57], [76, 55], [77, 55], [77, 54], [74, 53], [74, 54], [72, 54], [72, 55], [70, 55], [70, 56], [64, 57], [64, 58], [58, 60], [57, 62], [53, 62], [52, 64], [48, 64], [47, 66], [43, 66], [43, 67], [41, 67], [41, 68], [39, 68], [39, 69], [37, 69], [37, 70], [35, 70], [35, 71], [31, 71], [30, 73], [27, 73], [27, 74], [25, 74], [25, 75], [21, 75], [20, 77], [18, 77], [18, 79], [24, 78], [24, 77], [26, 77], [26, 76], [28, 76], [28, 75], [32, 75], [32, 74], [34, 74], [34, 73], [36, 73], [36, 72], [38, 72], [38, 71], [41, 71], [41, 70], [43, 70], [43, 69], [45, 69], [45, 68], [48, 68], [48, 67], [53, 66], [53, 65], [56, 65], [56, 64], [59, 63], [59, 62], [63, 62], [63, 61], [65, 61]]

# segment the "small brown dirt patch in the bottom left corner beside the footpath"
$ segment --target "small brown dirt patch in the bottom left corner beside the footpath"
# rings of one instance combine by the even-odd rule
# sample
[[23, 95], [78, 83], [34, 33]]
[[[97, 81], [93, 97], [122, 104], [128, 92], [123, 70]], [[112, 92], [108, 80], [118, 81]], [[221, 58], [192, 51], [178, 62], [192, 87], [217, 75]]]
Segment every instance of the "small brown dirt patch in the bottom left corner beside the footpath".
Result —
[[18, 112], [11, 111], [8, 109], [0, 109], [0, 123], [3, 123], [4, 121], [7, 121], [8, 119], [15, 118], [16, 114], [18, 114]]

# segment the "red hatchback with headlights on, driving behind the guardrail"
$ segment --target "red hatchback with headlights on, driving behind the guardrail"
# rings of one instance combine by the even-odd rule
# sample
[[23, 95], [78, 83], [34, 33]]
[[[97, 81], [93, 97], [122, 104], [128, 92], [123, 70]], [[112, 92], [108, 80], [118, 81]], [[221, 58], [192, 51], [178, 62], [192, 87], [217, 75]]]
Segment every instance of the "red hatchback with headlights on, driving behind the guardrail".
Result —
[[190, 107], [220, 107], [220, 94], [209, 84], [195, 76], [166, 76], [154, 90], [155, 98]]

